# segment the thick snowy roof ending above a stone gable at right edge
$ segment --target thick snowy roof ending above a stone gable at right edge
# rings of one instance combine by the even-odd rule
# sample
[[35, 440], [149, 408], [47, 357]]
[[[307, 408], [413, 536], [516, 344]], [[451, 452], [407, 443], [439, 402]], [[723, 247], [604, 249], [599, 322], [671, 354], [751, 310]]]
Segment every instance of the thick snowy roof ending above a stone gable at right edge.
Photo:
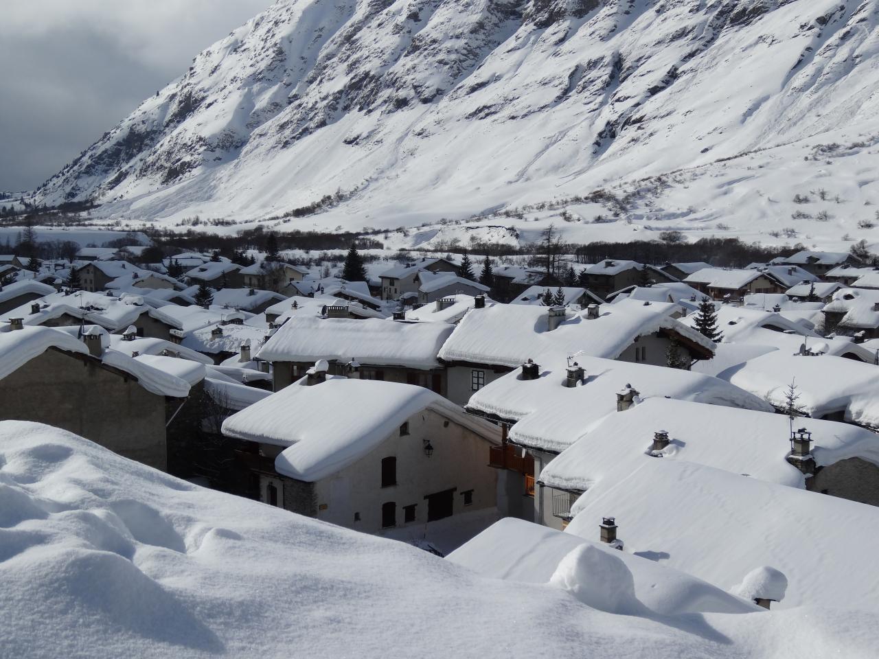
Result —
[[[879, 465], [879, 436], [852, 424], [796, 419], [812, 432], [820, 466], [860, 457]], [[585, 491], [603, 479], [620, 479], [656, 460], [648, 453], [657, 431], [671, 444], [665, 460], [682, 460], [747, 474], [761, 481], [805, 488], [805, 477], [786, 460], [790, 453], [788, 416], [699, 402], [650, 398], [594, 424], [541, 471], [540, 480], [556, 489]]]

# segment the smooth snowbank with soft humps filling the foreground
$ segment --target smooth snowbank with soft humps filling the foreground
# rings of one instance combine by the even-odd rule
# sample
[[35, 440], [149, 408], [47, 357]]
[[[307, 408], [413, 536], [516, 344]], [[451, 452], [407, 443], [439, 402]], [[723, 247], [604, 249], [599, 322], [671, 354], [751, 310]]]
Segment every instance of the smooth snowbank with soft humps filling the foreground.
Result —
[[[549, 585], [490, 579], [65, 431], [0, 423], [4, 656], [860, 659], [879, 641], [868, 612], [686, 613], [716, 610], [706, 591], [731, 598], [681, 593], [696, 580], [611, 554], [566, 557]], [[659, 612], [633, 586], [650, 579]]]

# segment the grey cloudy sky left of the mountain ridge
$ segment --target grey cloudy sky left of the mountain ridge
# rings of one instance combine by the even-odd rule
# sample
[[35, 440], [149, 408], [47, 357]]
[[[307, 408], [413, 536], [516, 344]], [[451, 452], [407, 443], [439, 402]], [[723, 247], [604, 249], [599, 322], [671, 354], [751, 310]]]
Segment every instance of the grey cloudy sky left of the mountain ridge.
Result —
[[2, 0], [0, 191], [60, 170], [272, 0]]

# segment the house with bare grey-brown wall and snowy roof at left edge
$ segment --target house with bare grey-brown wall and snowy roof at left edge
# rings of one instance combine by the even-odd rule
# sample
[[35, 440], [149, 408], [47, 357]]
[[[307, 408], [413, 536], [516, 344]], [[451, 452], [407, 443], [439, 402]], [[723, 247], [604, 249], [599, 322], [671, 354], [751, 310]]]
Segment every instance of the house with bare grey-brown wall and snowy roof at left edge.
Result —
[[166, 469], [166, 409], [188, 395], [184, 381], [104, 351], [106, 335], [94, 326], [83, 340], [17, 327], [0, 334], [0, 417], [54, 425]]

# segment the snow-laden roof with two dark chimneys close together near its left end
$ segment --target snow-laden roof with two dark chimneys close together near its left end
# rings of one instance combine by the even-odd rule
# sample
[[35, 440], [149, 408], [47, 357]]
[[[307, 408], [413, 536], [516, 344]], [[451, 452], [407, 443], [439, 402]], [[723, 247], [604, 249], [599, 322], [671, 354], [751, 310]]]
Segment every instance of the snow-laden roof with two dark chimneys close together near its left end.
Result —
[[490, 382], [470, 397], [467, 409], [516, 422], [510, 431], [513, 441], [556, 453], [613, 412], [617, 393], [629, 386], [641, 400], [665, 396], [772, 411], [758, 396], [701, 373], [591, 357], [578, 358], [578, 364], [586, 376], [578, 387], [564, 387], [564, 362], [551, 370], [541, 365], [537, 380], [521, 380], [521, 374], [513, 371]]

